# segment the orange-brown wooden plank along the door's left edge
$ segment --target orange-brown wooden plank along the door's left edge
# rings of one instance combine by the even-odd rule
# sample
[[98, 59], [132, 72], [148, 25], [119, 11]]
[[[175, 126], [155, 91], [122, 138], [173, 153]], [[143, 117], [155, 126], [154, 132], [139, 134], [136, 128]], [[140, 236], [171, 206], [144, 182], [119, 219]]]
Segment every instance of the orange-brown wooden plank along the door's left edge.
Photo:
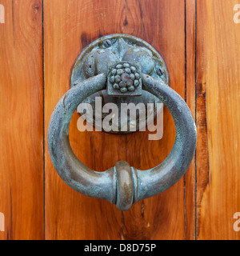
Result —
[[1, 4], [0, 239], [43, 239], [42, 1]]

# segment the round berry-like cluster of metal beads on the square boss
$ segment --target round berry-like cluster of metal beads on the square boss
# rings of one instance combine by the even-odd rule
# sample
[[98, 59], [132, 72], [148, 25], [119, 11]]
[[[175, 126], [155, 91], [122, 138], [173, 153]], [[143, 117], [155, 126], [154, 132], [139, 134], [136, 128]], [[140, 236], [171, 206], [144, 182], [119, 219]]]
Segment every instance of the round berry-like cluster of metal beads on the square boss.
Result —
[[116, 63], [110, 71], [110, 83], [122, 93], [134, 91], [140, 84], [140, 74], [135, 66], [128, 62]]

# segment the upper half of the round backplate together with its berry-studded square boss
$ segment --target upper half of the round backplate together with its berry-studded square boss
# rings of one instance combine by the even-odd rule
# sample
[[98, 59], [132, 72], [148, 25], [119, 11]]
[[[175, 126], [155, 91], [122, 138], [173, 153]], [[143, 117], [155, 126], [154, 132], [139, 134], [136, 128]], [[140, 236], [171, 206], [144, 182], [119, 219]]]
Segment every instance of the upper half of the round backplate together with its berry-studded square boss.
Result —
[[161, 56], [137, 38], [107, 37], [97, 40], [79, 56], [71, 81], [74, 84], [98, 74], [107, 74], [110, 97], [142, 95], [142, 74], [168, 82]]

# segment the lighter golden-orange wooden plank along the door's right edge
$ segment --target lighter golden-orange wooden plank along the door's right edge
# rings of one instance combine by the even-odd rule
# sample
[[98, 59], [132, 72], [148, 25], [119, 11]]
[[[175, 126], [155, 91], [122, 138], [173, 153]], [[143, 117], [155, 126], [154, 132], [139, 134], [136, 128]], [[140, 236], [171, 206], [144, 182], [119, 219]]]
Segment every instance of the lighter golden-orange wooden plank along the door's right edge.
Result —
[[197, 238], [239, 239], [239, 46], [236, 1], [197, 7]]

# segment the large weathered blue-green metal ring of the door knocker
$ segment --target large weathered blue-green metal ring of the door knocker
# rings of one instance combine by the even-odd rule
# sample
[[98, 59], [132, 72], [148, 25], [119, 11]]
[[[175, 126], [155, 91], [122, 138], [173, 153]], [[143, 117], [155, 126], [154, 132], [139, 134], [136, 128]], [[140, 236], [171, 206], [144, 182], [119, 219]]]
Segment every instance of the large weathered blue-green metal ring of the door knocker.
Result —
[[[122, 35], [118, 35], [118, 38], [120, 37]], [[78, 105], [91, 94], [105, 90], [106, 84], [110, 93], [116, 90], [116, 94], [134, 94], [132, 90], [119, 90], [128, 88], [127, 86], [114, 88], [112, 74], [116, 74], [116, 66], [122, 67], [123, 64], [126, 64], [126, 68], [134, 66], [134, 71], [139, 68], [138, 63], [115, 62], [107, 74], [87, 78], [66, 92], [50, 118], [47, 141], [53, 165], [67, 185], [79, 193], [114, 203], [119, 210], [128, 210], [134, 202], [160, 194], [182, 178], [194, 157], [197, 133], [190, 109], [181, 96], [161, 79], [141, 74], [138, 80], [142, 83], [142, 89], [158, 97], [174, 118], [176, 137], [170, 154], [164, 162], [150, 170], [138, 170], [127, 162], [117, 162], [114, 167], [104, 172], [96, 172], [84, 166], [70, 147], [70, 120]]]

